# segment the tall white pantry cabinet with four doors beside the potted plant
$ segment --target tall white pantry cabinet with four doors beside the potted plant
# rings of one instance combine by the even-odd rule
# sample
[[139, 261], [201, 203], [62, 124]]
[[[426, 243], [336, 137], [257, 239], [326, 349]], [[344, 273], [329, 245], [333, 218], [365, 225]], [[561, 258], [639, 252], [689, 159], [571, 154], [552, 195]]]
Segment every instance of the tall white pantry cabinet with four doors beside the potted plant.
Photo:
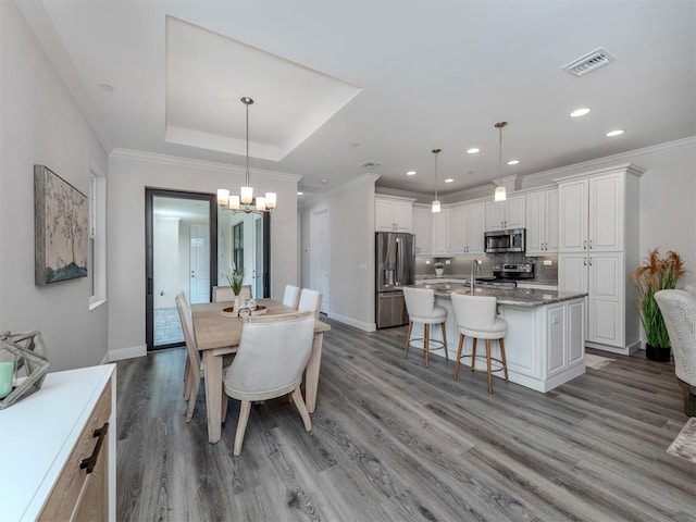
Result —
[[636, 291], [639, 177], [624, 164], [557, 179], [558, 289], [587, 293], [586, 346], [616, 353], [641, 347]]

